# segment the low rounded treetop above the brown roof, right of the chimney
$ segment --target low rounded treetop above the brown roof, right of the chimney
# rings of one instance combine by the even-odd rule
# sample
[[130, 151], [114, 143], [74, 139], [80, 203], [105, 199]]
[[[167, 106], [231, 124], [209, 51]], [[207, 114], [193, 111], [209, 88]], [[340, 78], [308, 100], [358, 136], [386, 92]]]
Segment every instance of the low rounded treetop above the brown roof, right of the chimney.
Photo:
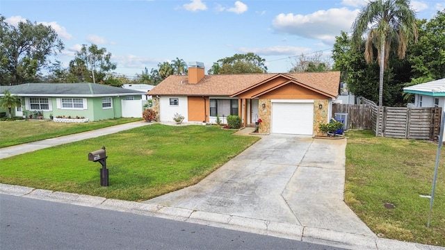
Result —
[[[254, 53], [245, 53], [223, 58], [217, 61], [219, 67], [213, 63], [212, 74], [244, 74], [266, 73], [266, 59]], [[210, 74], [210, 73], [209, 73]]]

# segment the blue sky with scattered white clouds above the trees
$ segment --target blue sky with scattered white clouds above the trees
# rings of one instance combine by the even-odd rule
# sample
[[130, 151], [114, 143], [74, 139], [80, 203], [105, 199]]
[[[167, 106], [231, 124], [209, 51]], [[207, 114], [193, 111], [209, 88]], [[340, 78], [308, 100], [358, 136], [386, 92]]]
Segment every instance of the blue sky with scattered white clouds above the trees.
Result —
[[[82, 44], [106, 48], [127, 77], [176, 58], [204, 63], [256, 53], [268, 72], [289, 72], [301, 54], [330, 58], [335, 37], [350, 32], [366, 0], [0, 0], [0, 15], [17, 26], [50, 25], [65, 44], [56, 58], [68, 66]], [[445, 1], [411, 1], [419, 19]]]

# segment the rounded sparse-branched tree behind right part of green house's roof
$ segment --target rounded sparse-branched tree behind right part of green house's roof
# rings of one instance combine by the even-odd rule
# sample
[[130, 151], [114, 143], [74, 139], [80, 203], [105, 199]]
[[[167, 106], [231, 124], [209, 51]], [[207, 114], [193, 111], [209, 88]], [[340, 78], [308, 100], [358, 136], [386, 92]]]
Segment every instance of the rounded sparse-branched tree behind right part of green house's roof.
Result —
[[105, 48], [98, 48], [96, 44], [87, 47], [82, 45], [76, 57], [70, 61], [70, 73], [79, 81], [106, 83], [106, 74], [116, 69], [116, 63], [111, 62], [111, 53]]

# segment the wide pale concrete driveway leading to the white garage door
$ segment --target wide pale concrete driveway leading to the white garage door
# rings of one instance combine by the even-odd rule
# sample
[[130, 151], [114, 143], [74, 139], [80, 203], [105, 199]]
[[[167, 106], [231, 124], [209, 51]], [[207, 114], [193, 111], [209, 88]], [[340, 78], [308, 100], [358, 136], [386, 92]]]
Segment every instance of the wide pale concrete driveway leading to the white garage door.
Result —
[[375, 234], [343, 202], [346, 139], [267, 135], [197, 185], [145, 203]]

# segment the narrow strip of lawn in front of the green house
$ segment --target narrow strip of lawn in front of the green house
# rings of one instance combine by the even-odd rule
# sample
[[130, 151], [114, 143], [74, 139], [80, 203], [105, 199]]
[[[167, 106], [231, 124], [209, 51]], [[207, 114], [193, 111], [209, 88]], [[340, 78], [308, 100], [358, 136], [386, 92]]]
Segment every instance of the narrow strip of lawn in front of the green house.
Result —
[[142, 118], [118, 118], [85, 123], [63, 123], [47, 120], [0, 122], [0, 148], [140, 120]]

